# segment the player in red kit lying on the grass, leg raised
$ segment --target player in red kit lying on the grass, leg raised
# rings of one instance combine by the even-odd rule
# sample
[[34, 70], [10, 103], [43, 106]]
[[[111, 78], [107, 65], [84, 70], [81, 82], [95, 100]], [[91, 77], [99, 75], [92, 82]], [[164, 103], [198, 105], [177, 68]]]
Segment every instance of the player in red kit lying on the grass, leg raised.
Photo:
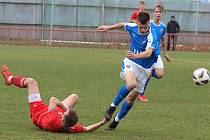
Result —
[[51, 97], [49, 105], [43, 103], [38, 83], [32, 78], [24, 76], [13, 76], [7, 65], [1, 67], [1, 72], [6, 85], [15, 85], [20, 88], [28, 88], [28, 101], [30, 115], [34, 125], [40, 129], [52, 132], [81, 133], [91, 132], [104, 125], [107, 120], [104, 118], [98, 123], [90, 126], [77, 124], [78, 115], [72, 109], [78, 102], [78, 96], [71, 94], [63, 101]]

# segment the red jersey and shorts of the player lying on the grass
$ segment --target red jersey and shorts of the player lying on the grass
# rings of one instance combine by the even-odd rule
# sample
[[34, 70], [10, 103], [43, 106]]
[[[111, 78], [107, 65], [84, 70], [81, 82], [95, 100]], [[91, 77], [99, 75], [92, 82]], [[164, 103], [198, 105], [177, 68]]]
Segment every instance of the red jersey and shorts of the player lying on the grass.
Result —
[[[60, 107], [56, 107], [55, 110], [48, 112], [48, 105], [44, 104], [43, 101], [30, 103], [31, 119], [33, 124], [37, 127], [53, 132], [64, 132], [62, 126], [62, 117], [64, 110]], [[76, 124], [69, 128], [71, 133], [84, 132], [84, 126]]]

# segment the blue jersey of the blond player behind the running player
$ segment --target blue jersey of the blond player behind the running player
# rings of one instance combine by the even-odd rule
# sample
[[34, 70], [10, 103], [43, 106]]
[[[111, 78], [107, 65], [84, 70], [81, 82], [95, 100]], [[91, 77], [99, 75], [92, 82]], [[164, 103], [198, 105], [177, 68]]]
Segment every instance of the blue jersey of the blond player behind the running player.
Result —
[[160, 43], [161, 39], [165, 36], [166, 34], [166, 26], [164, 23], [160, 22], [159, 25], [155, 24], [153, 20], [150, 21], [150, 27], [156, 31], [157, 34], [157, 50], [160, 53]]

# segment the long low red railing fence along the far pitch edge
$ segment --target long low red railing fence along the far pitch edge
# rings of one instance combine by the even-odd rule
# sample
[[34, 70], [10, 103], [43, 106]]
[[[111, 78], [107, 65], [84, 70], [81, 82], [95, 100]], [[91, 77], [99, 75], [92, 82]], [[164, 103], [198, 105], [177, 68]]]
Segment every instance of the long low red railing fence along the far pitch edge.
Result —
[[[177, 34], [176, 36], [177, 45], [175, 50], [210, 51], [210, 35]], [[0, 27], [0, 44], [3, 44], [3, 46], [127, 49], [129, 42], [129, 34], [120, 31], [99, 33], [96, 30]]]

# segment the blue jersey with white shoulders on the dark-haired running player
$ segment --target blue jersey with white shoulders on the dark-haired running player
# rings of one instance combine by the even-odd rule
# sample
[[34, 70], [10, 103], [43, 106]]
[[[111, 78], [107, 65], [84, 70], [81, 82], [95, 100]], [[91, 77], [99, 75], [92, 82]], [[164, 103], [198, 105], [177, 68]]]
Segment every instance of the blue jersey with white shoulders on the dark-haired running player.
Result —
[[160, 55], [160, 51], [157, 51], [157, 34], [155, 30], [150, 29], [147, 34], [140, 34], [136, 23], [127, 23], [125, 30], [130, 34], [130, 51], [133, 53], [144, 52], [148, 48], [153, 49], [153, 53], [149, 58], [137, 58], [130, 59], [143, 68], [151, 68], [154, 63], [157, 62], [157, 56]]

